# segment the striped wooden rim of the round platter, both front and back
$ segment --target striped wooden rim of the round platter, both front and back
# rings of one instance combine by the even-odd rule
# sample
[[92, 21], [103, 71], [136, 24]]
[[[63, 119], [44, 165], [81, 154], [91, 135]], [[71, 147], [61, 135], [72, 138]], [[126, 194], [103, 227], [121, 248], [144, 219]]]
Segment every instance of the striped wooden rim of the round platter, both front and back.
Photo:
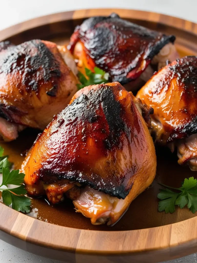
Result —
[[[82, 9], [50, 14], [11, 26], [0, 32], [0, 41], [35, 27], [66, 20], [87, 18], [98, 14], [108, 15], [112, 12], [118, 13], [123, 18], [133, 18], [155, 23], [157, 22], [181, 29], [182, 31], [193, 33], [194, 35], [197, 34], [197, 24], [164, 14], [114, 8]], [[1, 203], [0, 214], [0, 230], [26, 242], [51, 247], [57, 250], [68, 250], [71, 252], [75, 251], [77, 253], [86, 254], [127, 254], [142, 251], [150, 252], [152, 250], [163, 250], [167, 248], [173, 249], [183, 245], [189, 246], [191, 243], [194, 244], [195, 249], [197, 249], [196, 217], [174, 224], [147, 229], [96, 231], [74, 229], [43, 222], [12, 210]], [[46, 242], [46, 240], [44, 240], [44, 237], [42, 236], [43, 230], [47, 230], [47, 232], [54, 234], [51, 236], [53, 237], [51, 242]], [[69, 235], [70, 239], [65, 238], [65, 235]], [[63, 237], [61, 242], [60, 236]], [[108, 241], [110, 240], [112, 242], [110, 242], [109, 246], [107, 246], [105, 242], [99, 242], [99, 244], [96, 244], [96, 239], [108, 239]], [[92, 240], [95, 240], [95, 243], [92, 242]]]

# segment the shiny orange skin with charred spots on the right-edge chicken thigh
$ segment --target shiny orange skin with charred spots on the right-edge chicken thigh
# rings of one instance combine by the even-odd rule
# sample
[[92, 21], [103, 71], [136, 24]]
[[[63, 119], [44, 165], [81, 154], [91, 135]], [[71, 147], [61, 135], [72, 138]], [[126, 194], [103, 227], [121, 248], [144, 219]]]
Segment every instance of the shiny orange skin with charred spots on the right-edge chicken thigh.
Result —
[[177, 59], [156, 73], [137, 97], [154, 108], [153, 130], [161, 143], [197, 133], [197, 57]]

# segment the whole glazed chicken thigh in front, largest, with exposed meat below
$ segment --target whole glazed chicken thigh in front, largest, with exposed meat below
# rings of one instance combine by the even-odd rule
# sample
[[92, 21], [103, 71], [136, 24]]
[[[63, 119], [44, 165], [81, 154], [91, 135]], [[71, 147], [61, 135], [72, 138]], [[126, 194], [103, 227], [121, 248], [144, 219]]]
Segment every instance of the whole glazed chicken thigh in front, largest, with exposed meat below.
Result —
[[152, 111], [118, 82], [79, 90], [23, 162], [28, 193], [66, 195], [92, 224], [114, 224], [154, 179]]

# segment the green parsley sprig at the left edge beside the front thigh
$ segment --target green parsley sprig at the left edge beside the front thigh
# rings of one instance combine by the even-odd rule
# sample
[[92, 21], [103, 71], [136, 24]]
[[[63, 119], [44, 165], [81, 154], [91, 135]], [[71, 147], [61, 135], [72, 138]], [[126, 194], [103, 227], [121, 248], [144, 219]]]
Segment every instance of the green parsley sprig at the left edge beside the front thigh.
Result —
[[[12, 208], [17, 211], [29, 213], [31, 200], [25, 196], [27, 193], [23, 185], [25, 175], [19, 173], [19, 170], [10, 171], [11, 163], [8, 161], [8, 156], [3, 156], [3, 151], [3, 148], [0, 146], [0, 173], [3, 175], [0, 191], [2, 191], [3, 203], [7, 206], [12, 205]], [[18, 185], [19, 187], [8, 188], [9, 184]]]

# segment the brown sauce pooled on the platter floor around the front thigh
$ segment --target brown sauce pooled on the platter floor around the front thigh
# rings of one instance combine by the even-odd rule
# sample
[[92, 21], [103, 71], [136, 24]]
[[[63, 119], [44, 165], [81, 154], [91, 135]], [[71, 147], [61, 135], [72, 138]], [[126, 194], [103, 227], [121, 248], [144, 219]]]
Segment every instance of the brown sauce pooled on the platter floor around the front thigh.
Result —
[[[37, 130], [26, 129], [20, 133], [17, 140], [1, 143], [5, 154], [8, 154], [9, 160], [14, 163], [14, 169], [20, 168], [24, 159], [21, 154], [31, 147], [38, 133]], [[197, 172], [190, 171], [187, 166], [178, 165], [176, 153], [172, 154], [168, 148], [156, 147], [156, 153], [157, 174], [154, 182], [131, 203], [128, 211], [115, 226], [92, 225], [90, 219], [75, 212], [72, 201], [69, 199], [65, 199], [61, 204], [49, 205], [44, 198], [33, 198], [32, 211], [28, 216], [61, 226], [105, 231], [143, 229], [172, 224], [196, 216], [188, 208], [177, 207], [173, 214], [158, 212], [157, 194], [161, 186], [157, 182], [180, 187], [184, 178], [190, 176], [197, 178]]]

